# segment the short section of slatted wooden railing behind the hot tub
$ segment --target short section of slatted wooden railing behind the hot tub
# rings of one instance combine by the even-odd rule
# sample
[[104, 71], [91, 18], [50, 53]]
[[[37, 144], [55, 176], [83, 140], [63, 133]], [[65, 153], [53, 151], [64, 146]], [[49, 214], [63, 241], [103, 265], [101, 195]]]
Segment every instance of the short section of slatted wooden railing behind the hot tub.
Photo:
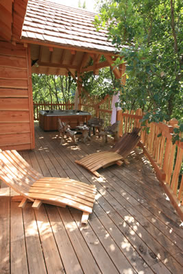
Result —
[[54, 103], [54, 102], [34, 102], [34, 121], [39, 120], [40, 110], [72, 110], [74, 103], [66, 101], [65, 103]]

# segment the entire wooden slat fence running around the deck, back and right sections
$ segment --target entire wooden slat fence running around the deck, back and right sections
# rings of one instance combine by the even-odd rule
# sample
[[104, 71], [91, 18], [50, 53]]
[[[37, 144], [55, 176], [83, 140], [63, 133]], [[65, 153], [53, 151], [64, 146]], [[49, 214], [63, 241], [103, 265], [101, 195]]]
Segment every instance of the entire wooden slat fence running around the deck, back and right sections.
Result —
[[[97, 116], [104, 121], [104, 127], [110, 125], [112, 97], [106, 96], [99, 101], [97, 97], [87, 95], [80, 100], [80, 107], [88, 111], [92, 116]], [[73, 103], [34, 103], [34, 117], [38, 119], [38, 111], [42, 109], [68, 110], [73, 108]], [[131, 132], [132, 128], [141, 127], [142, 111], [134, 110], [117, 112], [117, 121], [121, 121], [119, 135]], [[173, 129], [178, 127], [178, 121], [172, 119], [169, 123], [150, 123], [149, 134], [141, 130], [141, 142], [138, 146], [143, 149], [145, 155], [154, 167], [156, 175], [164, 187], [165, 192], [173, 203], [173, 206], [183, 220], [183, 176], [181, 172], [183, 142], [177, 141], [173, 145]]]

